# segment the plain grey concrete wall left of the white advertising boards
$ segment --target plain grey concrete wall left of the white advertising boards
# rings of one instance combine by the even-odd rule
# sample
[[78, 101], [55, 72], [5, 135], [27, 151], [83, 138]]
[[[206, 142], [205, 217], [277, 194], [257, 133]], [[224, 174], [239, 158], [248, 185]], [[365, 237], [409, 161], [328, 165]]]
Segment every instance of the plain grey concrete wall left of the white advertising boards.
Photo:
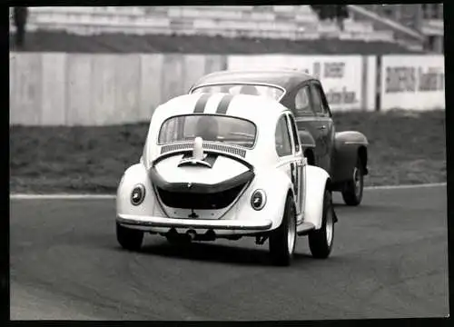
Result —
[[104, 125], [146, 121], [187, 93], [221, 55], [10, 54], [10, 124]]

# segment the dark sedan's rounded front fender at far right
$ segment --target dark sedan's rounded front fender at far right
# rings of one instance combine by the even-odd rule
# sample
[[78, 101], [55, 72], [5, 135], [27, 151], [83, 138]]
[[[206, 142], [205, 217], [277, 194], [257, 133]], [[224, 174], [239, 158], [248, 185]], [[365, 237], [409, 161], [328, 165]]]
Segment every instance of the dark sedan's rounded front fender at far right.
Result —
[[353, 173], [360, 148], [364, 148], [363, 168], [364, 174], [367, 169], [368, 139], [364, 134], [355, 131], [339, 132], [334, 135], [334, 166], [332, 173], [333, 183], [348, 181]]

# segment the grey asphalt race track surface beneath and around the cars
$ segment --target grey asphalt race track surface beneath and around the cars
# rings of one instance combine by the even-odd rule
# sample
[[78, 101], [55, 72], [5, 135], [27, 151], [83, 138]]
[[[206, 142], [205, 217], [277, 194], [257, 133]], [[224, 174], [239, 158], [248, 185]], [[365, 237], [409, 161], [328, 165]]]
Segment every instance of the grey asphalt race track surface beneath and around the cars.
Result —
[[[340, 196], [335, 196], [336, 203]], [[116, 243], [114, 200], [11, 200], [11, 319], [312, 320], [446, 317], [446, 186], [367, 190], [337, 205], [331, 258], [299, 238], [291, 267], [268, 243]]]

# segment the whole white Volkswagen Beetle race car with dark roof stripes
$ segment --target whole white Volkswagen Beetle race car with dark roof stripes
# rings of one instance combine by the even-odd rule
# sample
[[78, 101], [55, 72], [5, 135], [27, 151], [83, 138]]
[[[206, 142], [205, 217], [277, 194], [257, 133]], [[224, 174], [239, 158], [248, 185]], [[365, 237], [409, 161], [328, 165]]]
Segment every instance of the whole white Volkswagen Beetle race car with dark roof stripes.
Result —
[[[248, 108], [248, 110], [244, 110]], [[291, 111], [245, 94], [186, 94], [156, 108], [140, 163], [123, 174], [116, 234], [139, 250], [144, 233], [169, 242], [267, 240], [288, 265], [298, 236], [331, 253], [331, 178], [308, 165]]]

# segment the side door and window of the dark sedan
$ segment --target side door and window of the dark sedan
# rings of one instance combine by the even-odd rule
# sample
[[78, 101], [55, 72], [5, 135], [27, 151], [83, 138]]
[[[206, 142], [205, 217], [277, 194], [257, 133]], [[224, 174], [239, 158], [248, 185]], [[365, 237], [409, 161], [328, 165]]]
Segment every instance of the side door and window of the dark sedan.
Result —
[[[334, 146], [334, 124], [330, 108], [317, 81], [311, 82], [311, 106], [316, 116], [314, 127], [320, 147], [318, 149], [318, 165], [331, 174], [331, 160]], [[319, 146], [319, 145], [318, 145]]]

